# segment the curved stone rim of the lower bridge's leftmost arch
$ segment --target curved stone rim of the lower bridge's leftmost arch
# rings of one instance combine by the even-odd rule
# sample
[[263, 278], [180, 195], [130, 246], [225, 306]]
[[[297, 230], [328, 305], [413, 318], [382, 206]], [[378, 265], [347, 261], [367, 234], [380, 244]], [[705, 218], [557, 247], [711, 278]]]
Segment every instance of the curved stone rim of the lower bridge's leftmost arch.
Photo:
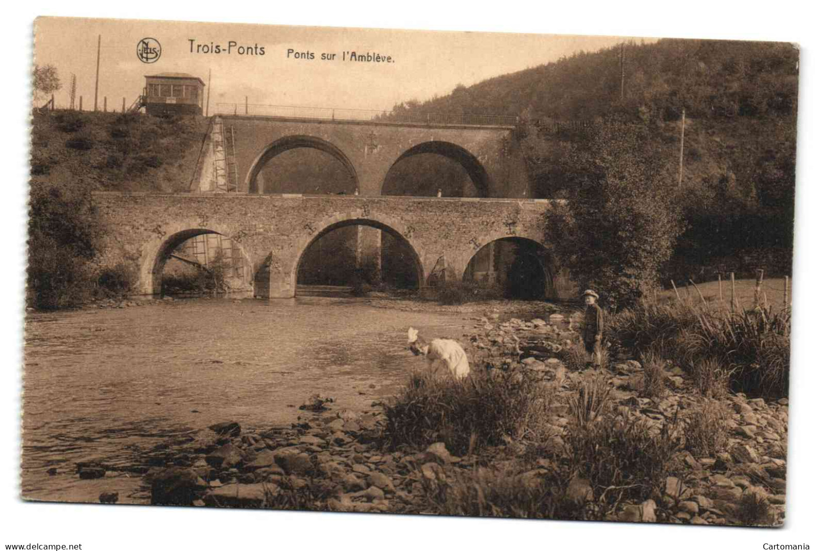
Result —
[[[141, 258], [139, 258], [139, 286], [143, 294], [161, 293], [161, 276], [165, 264], [170, 258], [170, 253], [177, 249], [178, 245], [181, 245], [184, 241], [205, 234], [219, 234], [221, 236], [231, 237], [231, 228], [218, 223], [208, 223], [207, 226], [204, 227], [200, 224], [200, 220], [188, 220], [166, 224], [161, 227], [156, 227], [154, 231], [156, 232], [156, 237], [143, 247]], [[252, 259], [243, 247], [238, 246], [240, 253], [249, 265], [251, 273]], [[249, 283], [251, 283], [251, 280]]]

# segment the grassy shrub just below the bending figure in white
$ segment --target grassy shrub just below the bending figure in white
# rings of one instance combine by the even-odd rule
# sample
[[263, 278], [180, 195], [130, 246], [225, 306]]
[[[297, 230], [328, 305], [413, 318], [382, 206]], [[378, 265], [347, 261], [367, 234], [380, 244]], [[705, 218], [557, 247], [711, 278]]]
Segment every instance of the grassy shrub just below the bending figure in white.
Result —
[[464, 380], [412, 374], [403, 390], [385, 402], [385, 440], [390, 447], [426, 447], [442, 441], [462, 455], [478, 447], [534, 438], [543, 430], [550, 390], [523, 371], [475, 368]]

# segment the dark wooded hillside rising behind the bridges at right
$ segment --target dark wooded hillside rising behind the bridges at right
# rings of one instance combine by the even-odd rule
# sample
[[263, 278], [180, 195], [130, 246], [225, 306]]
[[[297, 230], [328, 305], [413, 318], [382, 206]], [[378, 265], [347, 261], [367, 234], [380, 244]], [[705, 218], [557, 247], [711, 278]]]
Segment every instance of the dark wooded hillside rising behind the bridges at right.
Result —
[[[596, 127], [637, 125], [644, 135], [638, 154], [670, 175], [685, 220], [662, 283], [711, 280], [722, 271], [746, 275], [756, 267], [782, 276], [791, 272], [798, 59], [786, 43], [628, 42], [456, 86], [394, 111], [520, 117], [515, 138], [530, 195], [541, 198], [575, 196], [582, 167], [570, 160], [575, 150], [596, 151]], [[606, 154], [617, 152], [608, 147]]]

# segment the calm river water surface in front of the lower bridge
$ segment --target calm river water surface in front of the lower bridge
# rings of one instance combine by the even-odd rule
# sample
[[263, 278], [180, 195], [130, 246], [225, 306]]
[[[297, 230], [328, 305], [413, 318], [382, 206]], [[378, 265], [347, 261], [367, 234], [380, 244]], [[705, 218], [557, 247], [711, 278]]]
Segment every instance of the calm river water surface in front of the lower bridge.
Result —
[[[26, 320], [22, 493], [143, 503], [139, 455], [219, 421], [263, 430], [296, 421], [319, 394], [362, 412], [421, 362], [407, 327], [460, 338], [463, 314], [394, 311], [360, 299], [190, 299]], [[80, 480], [76, 463], [121, 465]], [[47, 470], [56, 468], [55, 475]]]

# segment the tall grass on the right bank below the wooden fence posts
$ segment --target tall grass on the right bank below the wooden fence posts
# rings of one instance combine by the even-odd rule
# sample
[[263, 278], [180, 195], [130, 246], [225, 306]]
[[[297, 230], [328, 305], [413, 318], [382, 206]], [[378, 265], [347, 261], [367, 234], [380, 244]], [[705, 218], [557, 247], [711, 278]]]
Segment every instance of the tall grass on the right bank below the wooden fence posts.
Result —
[[689, 372], [715, 360], [729, 373], [731, 390], [751, 395], [787, 394], [789, 332], [789, 311], [760, 307], [730, 313], [707, 303], [640, 302], [609, 321], [611, 338], [635, 355], [658, 350]]

